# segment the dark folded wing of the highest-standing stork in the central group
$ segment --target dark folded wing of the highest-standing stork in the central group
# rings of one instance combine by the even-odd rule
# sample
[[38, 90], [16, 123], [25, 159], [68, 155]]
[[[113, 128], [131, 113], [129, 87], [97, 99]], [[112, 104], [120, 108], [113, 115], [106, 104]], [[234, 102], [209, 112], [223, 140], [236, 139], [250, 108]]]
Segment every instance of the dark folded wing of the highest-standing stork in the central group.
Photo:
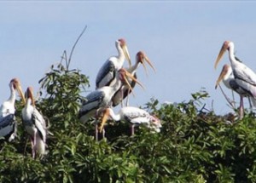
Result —
[[109, 86], [109, 84], [115, 78], [115, 70], [116, 69], [113, 61], [107, 60], [96, 76], [96, 89], [100, 89], [104, 86]]

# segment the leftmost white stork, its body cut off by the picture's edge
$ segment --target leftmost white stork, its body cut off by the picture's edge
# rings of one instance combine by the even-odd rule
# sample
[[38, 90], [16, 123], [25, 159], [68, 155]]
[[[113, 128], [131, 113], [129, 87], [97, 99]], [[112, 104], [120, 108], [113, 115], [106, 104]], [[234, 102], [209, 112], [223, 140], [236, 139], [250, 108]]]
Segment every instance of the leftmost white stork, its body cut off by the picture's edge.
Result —
[[12, 141], [15, 139], [17, 131], [17, 122], [15, 120], [15, 100], [17, 90], [21, 100], [25, 104], [25, 97], [21, 89], [20, 80], [18, 78], [11, 79], [9, 83], [10, 96], [0, 106], [0, 137]]

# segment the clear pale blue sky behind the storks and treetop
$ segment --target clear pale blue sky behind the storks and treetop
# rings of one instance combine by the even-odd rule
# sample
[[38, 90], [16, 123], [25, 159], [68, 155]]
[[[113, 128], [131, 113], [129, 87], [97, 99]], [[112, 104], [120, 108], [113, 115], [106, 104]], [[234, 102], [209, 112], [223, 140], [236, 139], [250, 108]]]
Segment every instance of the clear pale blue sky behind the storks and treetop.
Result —
[[[236, 56], [256, 71], [255, 8], [253, 1], [1, 1], [0, 102], [9, 98], [13, 77], [20, 78], [23, 90], [32, 86], [37, 92], [38, 81], [60, 62], [64, 50], [70, 53], [87, 26], [70, 66], [90, 79], [83, 95], [95, 89], [97, 71], [117, 54], [115, 40], [125, 38], [132, 63], [143, 50], [156, 68], [148, 67], [148, 76], [143, 67], [137, 70], [146, 90], [134, 90], [131, 106], [144, 106], [151, 98], [160, 104], [188, 101], [205, 89], [208, 109], [230, 112], [214, 88], [222, 66], [230, 63], [228, 54], [217, 70], [213, 66], [230, 40]], [[231, 97], [230, 90], [224, 91]]]

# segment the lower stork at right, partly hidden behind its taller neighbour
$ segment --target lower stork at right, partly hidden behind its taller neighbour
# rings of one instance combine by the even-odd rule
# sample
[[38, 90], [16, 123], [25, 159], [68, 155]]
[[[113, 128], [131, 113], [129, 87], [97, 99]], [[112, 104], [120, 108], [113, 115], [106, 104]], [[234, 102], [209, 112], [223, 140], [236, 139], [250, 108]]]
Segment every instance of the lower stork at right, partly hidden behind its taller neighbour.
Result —
[[[235, 91], [240, 96], [240, 106], [239, 106], [239, 116], [240, 118], [243, 117], [243, 112], [241, 111], [243, 109], [243, 97], [248, 97], [249, 102], [252, 100], [253, 106], [256, 105], [256, 100], [251, 97], [250, 93], [246, 89], [243, 89], [240, 85], [236, 83], [232, 68], [230, 65], [225, 64], [223, 66], [223, 69], [218, 77], [218, 80], [215, 85], [215, 89], [218, 88], [219, 83], [223, 81], [225, 87], [228, 89], [231, 89]], [[229, 101], [229, 100], [228, 100]], [[231, 104], [231, 103], [230, 103]]]

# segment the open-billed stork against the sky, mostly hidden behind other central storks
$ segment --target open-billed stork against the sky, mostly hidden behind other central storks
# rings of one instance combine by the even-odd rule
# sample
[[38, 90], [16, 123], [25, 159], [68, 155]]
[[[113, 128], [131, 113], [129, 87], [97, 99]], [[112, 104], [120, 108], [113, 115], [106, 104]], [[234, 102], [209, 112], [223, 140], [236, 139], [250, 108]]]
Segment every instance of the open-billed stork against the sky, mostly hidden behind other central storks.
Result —
[[[130, 68], [125, 68], [126, 71], [129, 71], [133, 77], [137, 78], [137, 68], [142, 64], [144, 70], [146, 71], [146, 73], [148, 74], [147, 71], [147, 67], [145, 65], [145, 62], [148, 63], [149, 66], [151, 66], [151, 68], [155, 71], [154, 66], [152, 65], [152, 63], [150, 62], [150, 60], [148, 59], [148, 56], [143, 52], [143, 51], [139, 51], [136, 54], [136, 62], [133, 66], [131, 66]], [[131, 88], [133, 89], [136, 85], [135, 82], [128, 80]], [[143, 86], [141, 86], [143, 88]], [[113, 106], [118, 106], [119, 103], [121, 103], [121, 106], [123, 106], [123, 103], [121, 101], [125, 100], [125, 98], [127, 97], [126, 100], [126, 106], [128, 106], [128, 94], [131, 94], [131, 90], [129, 89], [129, 87], [124, 84], [118, 92], [116, 92], [116, 94], [113, 95]]]

